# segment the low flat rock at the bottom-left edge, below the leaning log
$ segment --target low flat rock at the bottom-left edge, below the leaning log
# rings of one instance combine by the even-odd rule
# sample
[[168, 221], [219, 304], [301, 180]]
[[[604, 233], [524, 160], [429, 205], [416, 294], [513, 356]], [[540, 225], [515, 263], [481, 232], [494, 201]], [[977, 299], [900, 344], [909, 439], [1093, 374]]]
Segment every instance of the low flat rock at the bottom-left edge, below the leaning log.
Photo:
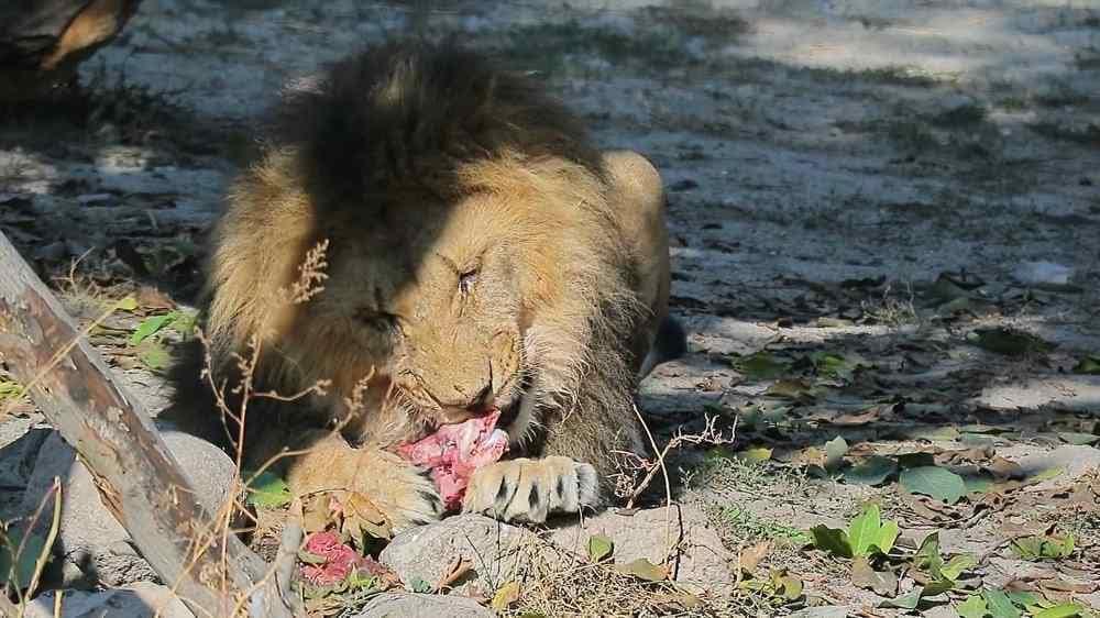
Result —
[[[55, 618], [54, 595], [48, 591], [30, 603], [25, 618]], [[124, 588], [84, 592], [65, 591], [61, 618], [120, 616], [125, 618], [195, 618], [179, 598], [166, 586], [139, 582]]]

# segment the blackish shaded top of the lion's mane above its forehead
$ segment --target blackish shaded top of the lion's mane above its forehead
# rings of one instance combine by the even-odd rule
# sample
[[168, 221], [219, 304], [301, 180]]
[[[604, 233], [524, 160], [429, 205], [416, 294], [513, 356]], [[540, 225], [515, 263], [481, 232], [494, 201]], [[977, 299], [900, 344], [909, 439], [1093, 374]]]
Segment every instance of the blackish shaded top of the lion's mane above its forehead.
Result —
[[540, 84], [453, 43], [392, 43], [331, 65], [288, 90], [275, 140], [304, 148], [315, 195], [332, 191], [333, 205], [403, 189], [451, 197], [458, 165], [505, 150], [603, 169]]

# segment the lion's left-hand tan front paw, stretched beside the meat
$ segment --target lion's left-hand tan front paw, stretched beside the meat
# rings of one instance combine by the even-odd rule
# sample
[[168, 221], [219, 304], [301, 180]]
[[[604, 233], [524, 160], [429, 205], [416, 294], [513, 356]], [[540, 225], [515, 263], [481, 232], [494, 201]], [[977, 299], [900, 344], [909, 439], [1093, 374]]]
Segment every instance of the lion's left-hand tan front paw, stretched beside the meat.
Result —
[[438, 521], [443, 514], [443, 503], [425, 471], [377, 448], [352, 448], [338, 434], [326, 435], [295, 457], [288, 465], [287, 483], [297, 496], [362, 494], [395, 531]]

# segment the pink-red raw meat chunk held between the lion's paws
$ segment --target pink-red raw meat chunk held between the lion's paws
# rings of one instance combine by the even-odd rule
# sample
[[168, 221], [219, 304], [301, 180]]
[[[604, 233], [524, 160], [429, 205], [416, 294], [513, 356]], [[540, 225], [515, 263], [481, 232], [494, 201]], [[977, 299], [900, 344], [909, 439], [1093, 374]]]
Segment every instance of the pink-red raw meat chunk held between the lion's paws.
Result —
[[457, 510], [474, 471], [498, 461], [508, 450], [508, 434], [496, 428], [499, 418], [501, 411], [493, 410], [465, 422], [444, 424], [427, 438], [398, 446], [397, 453], [429, 468], [443, 505]]

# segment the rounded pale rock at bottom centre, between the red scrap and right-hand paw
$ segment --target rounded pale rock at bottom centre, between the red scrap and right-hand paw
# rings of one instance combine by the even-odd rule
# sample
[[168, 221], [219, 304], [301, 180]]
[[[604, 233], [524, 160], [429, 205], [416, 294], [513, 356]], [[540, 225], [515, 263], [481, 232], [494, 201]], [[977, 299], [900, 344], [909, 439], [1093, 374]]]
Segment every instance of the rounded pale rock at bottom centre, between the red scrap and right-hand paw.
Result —
[[[413, 528], [394, 537], [378, 561], [394, 570], [406, 585], [438, 584], [458, 559], [468, 560], [471, 577], [455, 583], [466, 589], [476, 582], [487, 588], [510, 578], [520, 552], [538, 547], [534, 533], [482, 515], [459, 515]], [[537, 550], [535, 550], [537, 551]]]

